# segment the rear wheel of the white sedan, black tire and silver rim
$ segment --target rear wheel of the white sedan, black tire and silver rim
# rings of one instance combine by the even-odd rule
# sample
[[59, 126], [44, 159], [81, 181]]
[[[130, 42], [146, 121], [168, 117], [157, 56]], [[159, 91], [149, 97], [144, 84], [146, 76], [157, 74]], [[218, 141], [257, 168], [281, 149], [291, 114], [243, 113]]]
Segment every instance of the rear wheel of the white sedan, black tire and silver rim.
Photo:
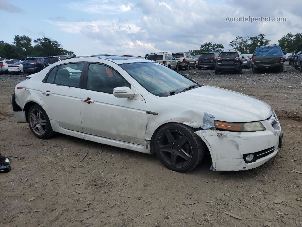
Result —
[[34, 104], [29, 108], [27, 122], [32, 133], [40, 139], [47, 139], [54, 134], [47, 113], [38, 104]]

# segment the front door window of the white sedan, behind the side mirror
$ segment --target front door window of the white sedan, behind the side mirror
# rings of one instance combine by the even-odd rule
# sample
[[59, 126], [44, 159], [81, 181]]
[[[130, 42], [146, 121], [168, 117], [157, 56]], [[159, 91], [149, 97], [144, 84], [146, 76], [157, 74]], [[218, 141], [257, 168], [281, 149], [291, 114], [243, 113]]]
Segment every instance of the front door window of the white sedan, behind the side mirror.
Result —
[[114, 88], [124, 86], [130, 88], [130, 84], [110, 67], [100, 64], [89, 64], [87, 75], [88, 89], [113, 94]]

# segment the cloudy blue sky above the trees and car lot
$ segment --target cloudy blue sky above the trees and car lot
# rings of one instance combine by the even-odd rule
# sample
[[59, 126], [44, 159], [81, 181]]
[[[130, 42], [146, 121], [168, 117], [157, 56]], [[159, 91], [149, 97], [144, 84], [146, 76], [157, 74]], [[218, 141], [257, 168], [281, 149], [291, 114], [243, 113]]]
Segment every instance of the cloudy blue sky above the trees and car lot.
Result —
[[[0, 0], [0, 40], [14, 35], [58, 40], [76, 55], [186, 52], [204, 42], [230, 48], [236, 36], [265, 34], [271, 44], [302, 32], [301, 1], [270, 0]], [[231, 22], [233, 17], [285, 22]]]

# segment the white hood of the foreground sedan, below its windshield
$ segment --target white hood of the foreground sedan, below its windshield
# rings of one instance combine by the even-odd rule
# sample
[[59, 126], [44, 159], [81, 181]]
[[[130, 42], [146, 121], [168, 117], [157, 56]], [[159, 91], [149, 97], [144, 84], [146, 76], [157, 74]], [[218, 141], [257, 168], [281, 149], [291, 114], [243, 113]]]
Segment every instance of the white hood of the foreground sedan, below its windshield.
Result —
[[170, 104], [181, 104], [184, 111], [193, 110], [202, 116], [204, 113], [209, 113], [214, 115], [215, 120], [228, 122], [265, 120], [266, 115], [271, 111], [271, 106], [261, 100], [235, 91], [207, 85], [167, 98]]

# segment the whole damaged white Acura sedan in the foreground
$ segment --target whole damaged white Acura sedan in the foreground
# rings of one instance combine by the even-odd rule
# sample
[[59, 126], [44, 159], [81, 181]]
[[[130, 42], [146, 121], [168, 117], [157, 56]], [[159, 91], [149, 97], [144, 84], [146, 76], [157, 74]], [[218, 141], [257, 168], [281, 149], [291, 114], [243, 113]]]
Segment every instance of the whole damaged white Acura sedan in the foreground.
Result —
[[18, 123], [143, 153], [185, 172], [209, 152], [214, 171], [252, 169], [281, 148], [272, 108], [238, 92], [195, 83], [154, 61], [125, 56], [56, 62], [15, 87]]

